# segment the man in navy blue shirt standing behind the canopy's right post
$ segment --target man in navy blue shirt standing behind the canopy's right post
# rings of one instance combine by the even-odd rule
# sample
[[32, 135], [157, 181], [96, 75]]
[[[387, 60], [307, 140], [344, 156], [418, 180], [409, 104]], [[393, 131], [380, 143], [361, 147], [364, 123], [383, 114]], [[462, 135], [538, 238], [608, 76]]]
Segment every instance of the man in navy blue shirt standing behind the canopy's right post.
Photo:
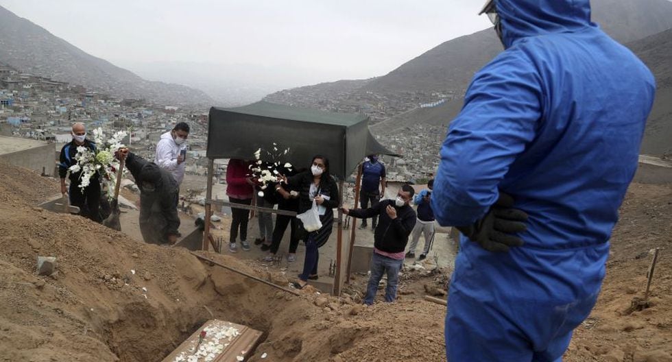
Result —
[[[380, 188], [379, 188], [380, 186]], [[374, 207], [385, 195], [385, 165], [376, 155], [370, 155], [364, 159], [361, 165], [361, 189], [359, 191], [359, 207], [368, 208], [369, 204]], [[378, 217], [371, 218], [371, 230], [376, 230]], [[366, 219], [361, 220], [360, 229], [366, 228]]]

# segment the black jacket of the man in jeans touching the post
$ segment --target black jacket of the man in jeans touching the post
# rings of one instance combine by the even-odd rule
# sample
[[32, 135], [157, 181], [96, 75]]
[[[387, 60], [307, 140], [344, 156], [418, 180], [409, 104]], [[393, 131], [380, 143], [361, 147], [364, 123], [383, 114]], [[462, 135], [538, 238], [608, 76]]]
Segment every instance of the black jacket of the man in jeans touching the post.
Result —
[[[396, 219], [390, 219], [385, 210], [388, 205], [396, 208]], [[406, 249], [408, 237], [416, 226], [416, 212], [408, 205], [394, 206], [394, 200], [383, 200], [367, 209], [353, 208], [348, 216], [365, 219], [378, 216], [374, 232], [374, 246], [383, 252], [398, 253]]]

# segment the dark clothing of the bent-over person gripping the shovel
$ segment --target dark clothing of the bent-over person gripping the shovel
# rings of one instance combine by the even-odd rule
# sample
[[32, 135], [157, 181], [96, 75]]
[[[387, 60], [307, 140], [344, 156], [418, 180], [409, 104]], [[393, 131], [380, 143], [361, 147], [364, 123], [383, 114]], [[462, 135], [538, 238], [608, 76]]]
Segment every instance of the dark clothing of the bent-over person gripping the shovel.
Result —
[[169, 235], [177, 235], [180, 228], [177, 202], [179, 187], [175, 178], [166, 171], [160, 169], [160, 184], [156, 185], [154, 192], [143, 190], [141, 169], [147, 165], [146, 160], [128, 153], [126, 167], [131, 171], [136, 186], [140, 189], [140, 231], [146, 243], [166, 243]]

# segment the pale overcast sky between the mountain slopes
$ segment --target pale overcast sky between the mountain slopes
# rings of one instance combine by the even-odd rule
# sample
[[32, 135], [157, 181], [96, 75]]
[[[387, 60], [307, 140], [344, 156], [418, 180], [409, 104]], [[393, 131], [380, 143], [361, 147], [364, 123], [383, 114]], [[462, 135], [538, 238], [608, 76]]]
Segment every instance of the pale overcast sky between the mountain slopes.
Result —
[[323, 81], [384, 75], [491, 26], [484, 0], [0, 0], [94, 56], [255, 64]]

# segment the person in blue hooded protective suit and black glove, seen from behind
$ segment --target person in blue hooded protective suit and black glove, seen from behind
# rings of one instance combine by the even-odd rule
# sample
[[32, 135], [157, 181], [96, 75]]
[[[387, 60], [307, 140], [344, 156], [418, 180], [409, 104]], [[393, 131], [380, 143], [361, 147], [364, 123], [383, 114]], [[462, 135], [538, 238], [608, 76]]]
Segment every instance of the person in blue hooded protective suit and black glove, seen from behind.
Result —
[[437, 221], [463, 234], [446, 354], [561, 361], [597, 300], [655, 84], [589, 0], [483, 12], [505, 51], [472, 80], [434, 182]]

